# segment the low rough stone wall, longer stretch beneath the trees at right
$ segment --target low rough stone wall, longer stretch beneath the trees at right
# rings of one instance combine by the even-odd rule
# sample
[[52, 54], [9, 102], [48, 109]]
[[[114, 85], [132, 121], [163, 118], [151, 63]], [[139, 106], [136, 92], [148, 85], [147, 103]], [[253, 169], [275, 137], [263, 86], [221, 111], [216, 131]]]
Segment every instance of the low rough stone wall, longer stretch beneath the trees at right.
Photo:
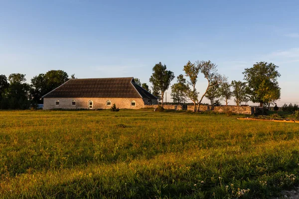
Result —
[[[196, 106], [197, 107], [197, 106]], [[194, 110], [194, 105], [188, 105], [188, 110]], [[199, 106], [200, 111], [207, 111], [207, 110], [213, 110], [215, 112], [228, 112], [232, 111], [236, 114], [254, 114], [254, 111], [251, 106], [211, 106], [211, 105], [200, 105]]]

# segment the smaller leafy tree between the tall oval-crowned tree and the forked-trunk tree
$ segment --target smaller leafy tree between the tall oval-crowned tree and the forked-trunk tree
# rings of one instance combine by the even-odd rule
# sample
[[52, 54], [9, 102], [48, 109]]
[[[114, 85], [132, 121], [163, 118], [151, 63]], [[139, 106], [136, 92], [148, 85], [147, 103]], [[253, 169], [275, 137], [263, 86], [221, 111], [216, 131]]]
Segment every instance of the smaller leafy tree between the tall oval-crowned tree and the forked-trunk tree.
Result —
[[171, 94], [173, 102], [181, 103], [186, 102], [186, 91], [189, 89], [187, 81], [183, 75], [176, 77], [176, 83], [171, 86]]

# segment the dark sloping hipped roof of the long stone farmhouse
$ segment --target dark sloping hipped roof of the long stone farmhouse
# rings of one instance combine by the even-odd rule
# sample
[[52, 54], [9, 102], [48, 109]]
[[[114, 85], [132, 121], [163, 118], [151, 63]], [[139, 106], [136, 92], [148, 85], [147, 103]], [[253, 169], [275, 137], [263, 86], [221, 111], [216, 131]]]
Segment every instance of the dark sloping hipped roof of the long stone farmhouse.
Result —
[[43, 98], [157, 98], [134, 82], [134, 78], [70, 79]]

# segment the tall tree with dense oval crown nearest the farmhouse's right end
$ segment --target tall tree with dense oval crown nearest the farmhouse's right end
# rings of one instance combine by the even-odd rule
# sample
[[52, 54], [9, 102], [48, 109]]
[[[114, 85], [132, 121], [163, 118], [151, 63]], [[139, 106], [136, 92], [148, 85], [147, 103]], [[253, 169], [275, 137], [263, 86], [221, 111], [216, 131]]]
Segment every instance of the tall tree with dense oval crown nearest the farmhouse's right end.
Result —
[[168, 71], [166, 65], [162, 65], [161, 62], [152, 68], [152, 72], [149, 82], [152, 84], [153, 90], [161, 94], [161, 105], [163, 107], [164, 92], [169, 88], [170, 82], [174, 79], [174, 74]]

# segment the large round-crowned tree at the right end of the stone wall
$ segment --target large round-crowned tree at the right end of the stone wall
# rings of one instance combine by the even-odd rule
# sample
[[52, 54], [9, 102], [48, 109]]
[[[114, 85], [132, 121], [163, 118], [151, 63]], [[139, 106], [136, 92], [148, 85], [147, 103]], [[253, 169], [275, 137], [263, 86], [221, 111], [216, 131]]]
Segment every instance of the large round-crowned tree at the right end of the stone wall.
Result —
[[280, 99], [280, 88], [277, 79], [281, 76], [278, 66], [273, 63], [257, 62], [252, 68], [243, 72], [247, 81], [248, 93], [252, 102], [259, 102], [261, 107], [265, 103], [273, 103]]

